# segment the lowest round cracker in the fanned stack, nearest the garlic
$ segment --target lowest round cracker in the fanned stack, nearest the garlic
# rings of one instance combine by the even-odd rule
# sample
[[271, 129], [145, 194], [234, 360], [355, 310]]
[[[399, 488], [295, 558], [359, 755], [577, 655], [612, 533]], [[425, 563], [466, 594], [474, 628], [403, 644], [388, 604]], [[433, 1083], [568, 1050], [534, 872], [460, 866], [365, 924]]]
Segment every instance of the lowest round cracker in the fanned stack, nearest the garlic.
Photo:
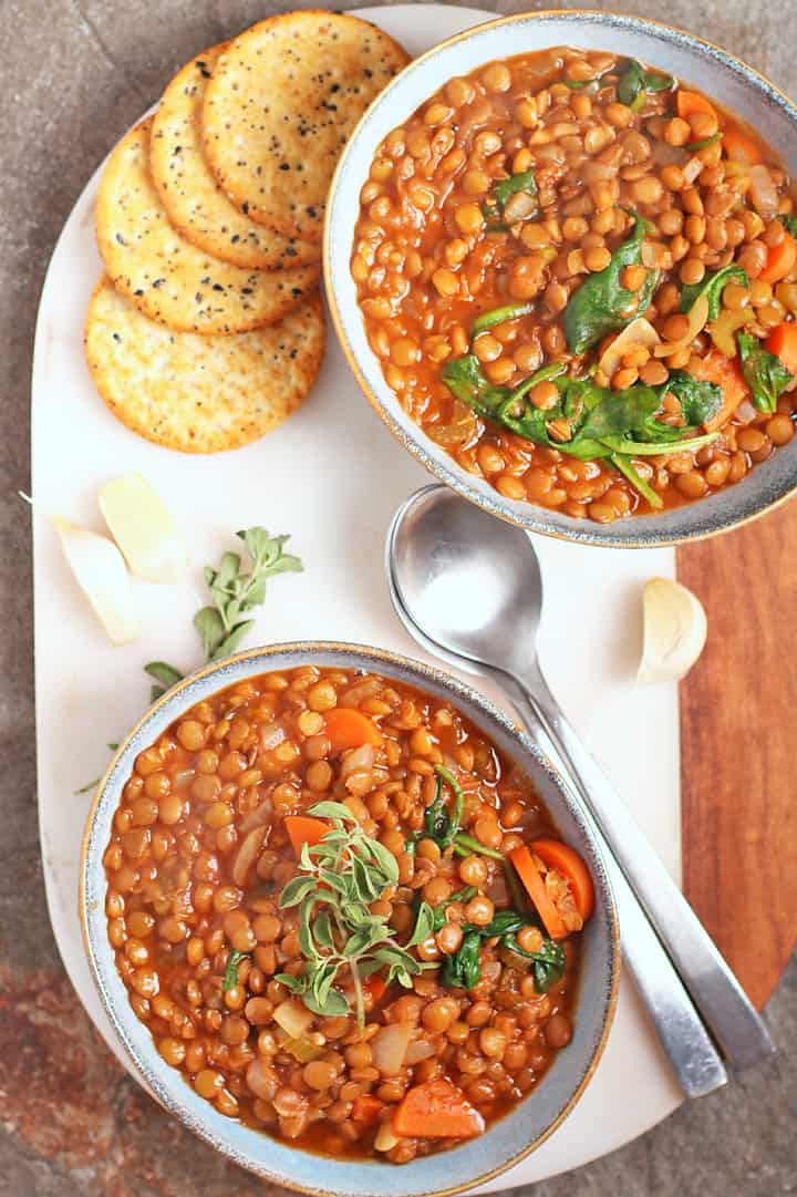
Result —
[[304, 401], [324, 352], [318, 293], [279, 324], [235, 336], [176, 333], [103, 278], [89, 304], [86, 360], [103, 401], [166, 449], [219, 452], [256, 440]]

